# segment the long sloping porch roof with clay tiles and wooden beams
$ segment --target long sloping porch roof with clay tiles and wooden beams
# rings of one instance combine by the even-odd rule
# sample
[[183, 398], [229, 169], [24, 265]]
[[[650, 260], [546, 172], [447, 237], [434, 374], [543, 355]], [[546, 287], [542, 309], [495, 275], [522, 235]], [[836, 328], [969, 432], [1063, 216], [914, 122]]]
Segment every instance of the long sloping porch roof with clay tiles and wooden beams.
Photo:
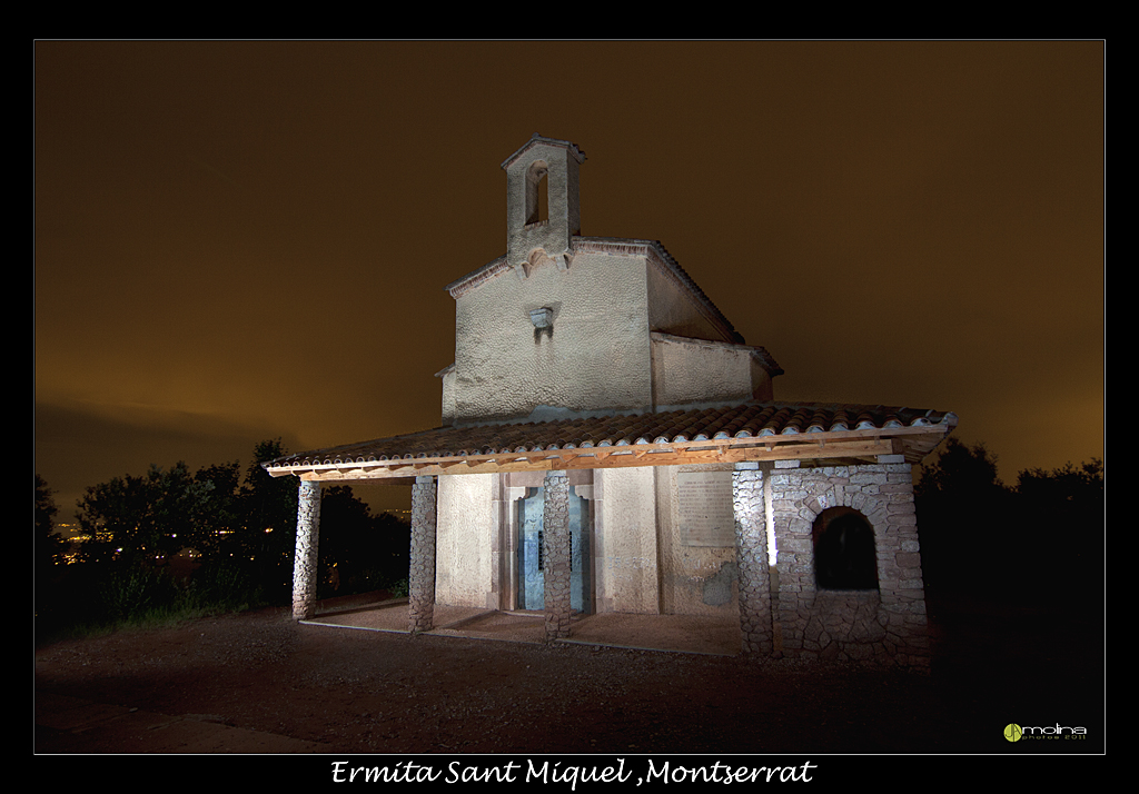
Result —
[[[654, 426], [664, 429], [654, 434]], [[952, 412], [747, 403], [727, 409], [441, 427], [288, 456], [262, 466], [276, 477], [405, 484], [417, 476], [550, 469], [770, 460], [837, 466], [876, 463], [880, 456], [899, 456], [899, 461], [917, 464], [956, 426]], [[501, 448], [493, 445], [499, 440], [506, 441]], [[464, 447], [454, 449], [456, 443]]]

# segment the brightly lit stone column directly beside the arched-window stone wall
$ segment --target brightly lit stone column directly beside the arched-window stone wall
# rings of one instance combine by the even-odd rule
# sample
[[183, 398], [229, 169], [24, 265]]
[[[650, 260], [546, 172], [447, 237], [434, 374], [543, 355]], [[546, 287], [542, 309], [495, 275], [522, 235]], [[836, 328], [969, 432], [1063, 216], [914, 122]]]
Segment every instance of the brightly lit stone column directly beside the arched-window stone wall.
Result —
[[763, 472], [757, 464], [736, 464], [731, 475], [736, 513], [736, 564], [739, 566], [739, 628], [744, 653], [770, 656], [775, 650], [771, 622], [771, 575], [768, 570], [768, 529]]

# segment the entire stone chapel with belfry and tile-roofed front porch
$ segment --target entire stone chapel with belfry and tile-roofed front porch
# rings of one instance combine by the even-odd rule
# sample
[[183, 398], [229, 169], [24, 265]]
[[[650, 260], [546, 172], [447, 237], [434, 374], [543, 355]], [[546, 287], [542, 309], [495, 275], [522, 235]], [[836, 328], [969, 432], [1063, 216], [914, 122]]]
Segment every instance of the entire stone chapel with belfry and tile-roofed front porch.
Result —
[[780, 403], [782, 370], [655, 240], [583, 237], [573, 144], [502, 163], [507, 249], [448, 285], [442, 424], [265, 465], [301, 480], [309, 616], [321, 482], [412, 486], [409, 629], [435, 604], [731, 615], [761, 655], [928, 663], [911, 466], [951, 412]]

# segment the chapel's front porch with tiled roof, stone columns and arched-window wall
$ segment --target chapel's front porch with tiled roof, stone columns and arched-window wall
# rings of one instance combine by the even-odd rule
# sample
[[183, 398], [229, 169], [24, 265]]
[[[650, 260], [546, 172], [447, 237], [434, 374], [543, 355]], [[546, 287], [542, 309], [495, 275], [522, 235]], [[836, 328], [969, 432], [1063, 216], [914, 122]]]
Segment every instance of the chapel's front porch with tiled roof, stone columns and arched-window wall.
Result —
[[[384, 621], [405, 621], [403, 630], [409, 632], [462, 629], [487, 635], [517, 632], [534, 641], [589, 642], [590, 632], [604, 633], [605, 627], [618, 627], [622, 615], [574, 619], [570, 601], [568, 473], [714, 464], [721, 468], [730, 465], [732, 469], [737, 648], [762, 655], [787, 650], [808, 657], [820, 653], [825, 656], [827, 648], [839, 647], [829, 642], [827, 627], [834, 635], [838, 625], [839, 631], [870, 638], [863, 644], [870, 648], [872, 642], [872, 648], [865, 653], [909, 663], [923, 654], [925, 645], [925, 600], [910, 466], [928, 455], [956, 424], [953, 414], [908, 408], [744, 403], [442, 427], [289, 456], [264, 466], [273, 476], [301, 478], [294, 571], [297, 620], [312, 620], [317, 614], [321, 483], [384, 480], [412, 488], [410, 597], [404, 613], [384, 614]], [[515, 472], [542, 473], [544, 609], [540, 619], [495, 609], [452, 619], [445, 612], [450, 607], [435, 604], [437, 480]], [[817, 594], [811, 521], [836, 506], [861, 511], [878, 538], [878, 592], [867, 613], [877, 624], [869, 629], [866, 615], [858, 620], [839, 615], [836, 623], [835, 615], [812, 613]], [[772, 574], [779, 582], [775, 591]], [[827, 595], [819, 603], [835, 604], [831, 594]], [[865, 606], [858, 608], [866, 612]], [[693, 616], [667, 617], [682, 623], [681, 619]], [[375, 619], [380, 620], [380, 615]], [[614, 628], [615, 635], [620, 632]], [[857, 645], [858, 640], [851, 642]]]

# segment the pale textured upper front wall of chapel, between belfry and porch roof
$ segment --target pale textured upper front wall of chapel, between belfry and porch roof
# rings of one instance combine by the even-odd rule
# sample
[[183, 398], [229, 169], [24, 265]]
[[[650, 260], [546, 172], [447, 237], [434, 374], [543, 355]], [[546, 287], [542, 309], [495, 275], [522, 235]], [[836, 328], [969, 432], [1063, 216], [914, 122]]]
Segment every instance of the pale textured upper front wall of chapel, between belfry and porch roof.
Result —
[[[456, 298], [452, 423], [652, 403], [646, 268], [637, 257], [581, 255], [525, 280], [501, 272]], [[548, 309], [536, 328], [530, 312]]]

